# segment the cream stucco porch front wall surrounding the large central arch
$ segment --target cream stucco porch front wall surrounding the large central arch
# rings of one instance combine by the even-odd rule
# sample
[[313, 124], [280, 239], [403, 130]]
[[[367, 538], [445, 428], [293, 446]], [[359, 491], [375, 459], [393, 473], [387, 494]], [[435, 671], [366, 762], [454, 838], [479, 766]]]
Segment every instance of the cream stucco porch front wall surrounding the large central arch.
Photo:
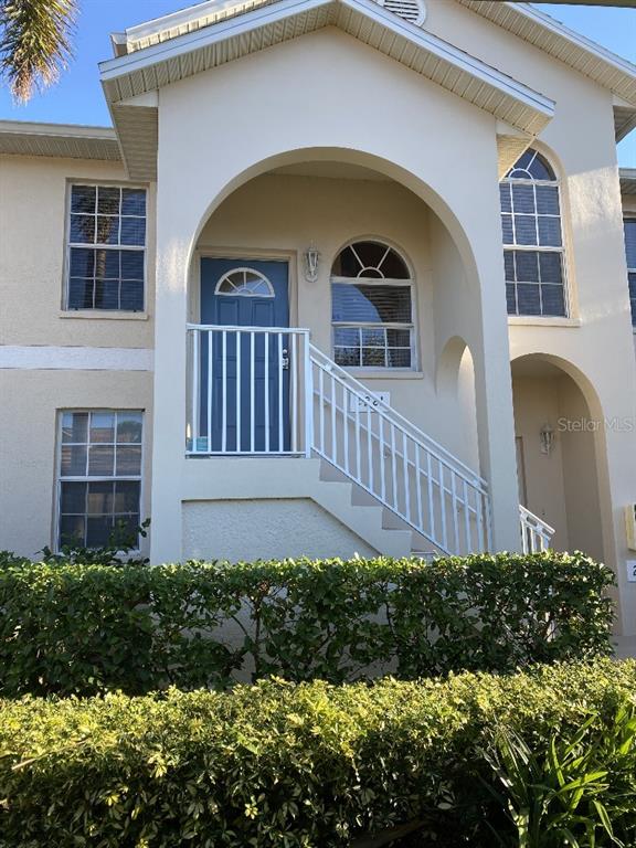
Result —
[[[294, 117], [283, 120], [277, 103], [286, 103], [287, 114]], [[307, 103], [311, 104], [309, 120]], [[395, 131], [404, 126], [405, 116], [409, 132]], [[232, 131], [219, 132], [220, 126], [231, 126]], [[469, 161], [464, 156], [468, 137]], [[210, 157], [212, 140], [214, 156]], [[475, 362], [481, 470], [496, 481], [495, 543], [517, 547], [496, 123], [328, 28], [159, 93], [155, 551], [161, 559], [181, 553], [176, 527], [188, 491], [186, 483], [174, 481], [186, 480], [184, 423], [170, 411], [183, 407], [186, 401], [186, 349], [174, 340], [183, 337], [188, 269], [200, 231], [222, 201], [251, 178], [274, 167], [317, 159], [380, 170], [417, 194], [449, 231], [460, 257], [455, 268], [463, 269], [464, 278], [447, 278], [452, 280], [447, 287], [463, 286], [464, 297], [451, 296], [448, 308], [436, 315], [436, 343], [444, 349], [457, 336], [458, 322], [464, 325], [462, 338]], [[205, 167], [184, 169], [183, 161]], [[469, 197], [479, 197], [480, 203], [467, 203]], [[297, 218], [301, 220], [303, 214], [297, 212]], [[289, 246], [288, 237], [283, 250]], [[454, 301], [462, 303], [462, 312], [452, 308]]]

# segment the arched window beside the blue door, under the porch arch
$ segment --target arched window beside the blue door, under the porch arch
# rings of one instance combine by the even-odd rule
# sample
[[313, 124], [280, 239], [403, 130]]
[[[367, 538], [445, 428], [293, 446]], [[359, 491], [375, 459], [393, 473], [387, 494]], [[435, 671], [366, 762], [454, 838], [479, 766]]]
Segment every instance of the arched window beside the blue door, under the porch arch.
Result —
[[346, 368], [414, 367], [413, 280], [381, 242], [344, 247], [331, 269], [333, 358]]

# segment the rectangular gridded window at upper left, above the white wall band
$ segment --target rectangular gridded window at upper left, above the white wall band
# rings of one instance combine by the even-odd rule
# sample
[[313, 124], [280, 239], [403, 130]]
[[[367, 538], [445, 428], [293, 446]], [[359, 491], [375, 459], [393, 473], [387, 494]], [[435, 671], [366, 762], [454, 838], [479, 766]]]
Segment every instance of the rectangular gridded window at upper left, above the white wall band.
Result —
[[146, 190], [71, 187], [67, 309], [142, 311]]

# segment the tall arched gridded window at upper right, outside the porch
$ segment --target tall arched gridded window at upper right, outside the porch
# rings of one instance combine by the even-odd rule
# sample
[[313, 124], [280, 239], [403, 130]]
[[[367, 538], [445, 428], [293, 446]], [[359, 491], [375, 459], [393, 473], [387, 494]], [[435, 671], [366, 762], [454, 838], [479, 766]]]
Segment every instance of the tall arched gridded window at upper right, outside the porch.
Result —
[[499, 184], [509, 315], [568, 315], [559, 181], [529, 149]]

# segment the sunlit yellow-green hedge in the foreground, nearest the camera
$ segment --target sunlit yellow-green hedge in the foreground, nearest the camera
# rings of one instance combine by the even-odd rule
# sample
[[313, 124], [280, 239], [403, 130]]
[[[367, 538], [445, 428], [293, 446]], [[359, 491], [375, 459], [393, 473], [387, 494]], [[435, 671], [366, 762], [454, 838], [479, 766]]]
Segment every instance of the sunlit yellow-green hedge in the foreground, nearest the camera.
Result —
[[[487, 822], [512, 834], [484, 785], [492, 733], [545, 749], [591, 711], [611, 724], [635, 693], [635, 662], [600, 659], [509, 677], [6, 700], [0, 845], [331, 848], [421, 819], [417, 844], [492, 848]], [[634, 748], [606, 759], [596, 797], [621, 796], [612, 824], [633, 846]]]

